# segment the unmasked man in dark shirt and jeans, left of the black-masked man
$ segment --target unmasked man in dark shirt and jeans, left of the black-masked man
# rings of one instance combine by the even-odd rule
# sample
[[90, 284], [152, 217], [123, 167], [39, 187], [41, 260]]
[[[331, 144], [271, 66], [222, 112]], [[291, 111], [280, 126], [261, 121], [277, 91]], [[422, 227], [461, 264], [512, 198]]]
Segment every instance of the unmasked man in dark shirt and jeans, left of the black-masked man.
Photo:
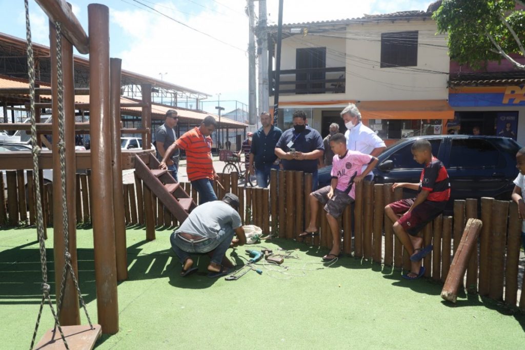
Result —
[[282, 135], [282, 130], [271, 124], [270, 113], [262, 112], [260, 119], [262, 126], [251, 140], [249, 170], [250, 175], [253, 175], [255, 163], [257, 186], [266, 188], [271, 169], [279, 169], [275, 146]]

